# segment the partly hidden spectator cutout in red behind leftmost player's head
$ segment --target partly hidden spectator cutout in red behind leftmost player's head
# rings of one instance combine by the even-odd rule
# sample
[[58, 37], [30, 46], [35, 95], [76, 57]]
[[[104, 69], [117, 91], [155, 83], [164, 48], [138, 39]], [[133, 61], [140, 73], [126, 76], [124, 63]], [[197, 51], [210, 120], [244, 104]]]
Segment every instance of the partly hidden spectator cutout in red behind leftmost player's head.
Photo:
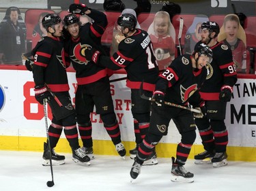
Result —
[[42, 26], [42, 18], [44, 18], [44, 16], [46, 16], [46, 14], [49, 14], [49, 13], [48, 12], [42, 12], [42, 14], [40, 14], [40, 16], [38, 18], [38, 24], [36, 24], [35, 27], [33, 28], [32, 48], [35, 47], [35, 45], [38, 43], [38, 41], [42, 37], [46, 37], [47, 36], [47, 31]]

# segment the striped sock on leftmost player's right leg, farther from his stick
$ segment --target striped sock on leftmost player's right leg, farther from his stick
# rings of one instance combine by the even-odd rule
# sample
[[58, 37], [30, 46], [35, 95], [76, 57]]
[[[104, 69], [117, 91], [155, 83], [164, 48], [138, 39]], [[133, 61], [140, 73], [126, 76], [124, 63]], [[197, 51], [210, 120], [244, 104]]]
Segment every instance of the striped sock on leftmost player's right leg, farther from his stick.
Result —
[[79, 133], [77, 131], [76, 125], [73, 126], [65, 126], [64, 133], [68, 142], [70, 143], [70, 147], [76, 150], [79, 148]]

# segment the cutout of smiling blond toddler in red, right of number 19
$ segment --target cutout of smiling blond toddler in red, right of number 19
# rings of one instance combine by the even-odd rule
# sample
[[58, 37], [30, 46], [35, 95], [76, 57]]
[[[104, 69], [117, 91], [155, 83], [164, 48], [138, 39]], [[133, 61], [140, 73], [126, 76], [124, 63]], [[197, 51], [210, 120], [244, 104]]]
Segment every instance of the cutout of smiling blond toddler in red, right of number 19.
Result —
[[167, 12], [157, 12], [147, 33], [152, 40], [159, 70], [166, 69], [175, 57], [175, 29]]

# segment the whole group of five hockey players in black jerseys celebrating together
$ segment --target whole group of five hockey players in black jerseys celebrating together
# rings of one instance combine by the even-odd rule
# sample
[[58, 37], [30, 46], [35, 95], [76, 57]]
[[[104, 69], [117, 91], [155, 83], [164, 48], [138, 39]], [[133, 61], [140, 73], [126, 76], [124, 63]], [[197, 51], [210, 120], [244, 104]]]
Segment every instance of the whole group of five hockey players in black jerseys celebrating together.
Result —
[[[184, 164], [195, 141], [196, 128], [205, 152], [195, 156], [195, 163], [208, 162], [213, 167], [227, 164], [225, 110], [237, 76], [231, 50], [216, 40], [220, 31], [216, 22], [201, 24], [201, 41], [192, 54], [174, 58], [171, 53], [171, 65], [159, 69], [152, 44], [154, 37], [136, 27], [134, 14], [126, 12], [119, 16], [117, 33], [122, 40], [117, 51], [108, 56], [100, 42], [107, 25], [105, 14], [76, 3], [70, 5], [69, 12], [63, 22], [57, 14], [42, 18], [47, 36], [32, 50], [33, 64], [26, 61], [27, 68], [33, 71], [35, 99], [41, 104], [46, 100], [53, 113], [44, 143], [44, 165], [49, 165], [50, 157], [54, 164], [65, 162], [65, 156], [54, 150], [63, 129], [74, 162], [89, 165], [94, 158], [90, 120], [94, 106], [118, 154], [126, 155], [109, 85], [109, 71], [118, 69], [125, 69], [126, 86], [131, 92], [136, 142], [136, 147], [130, 150], [134, 158], [132, 179], [138, 177], [142, 165], [158, 163], [155, 146], [167, 135], [170, 120], [181, 135], [176, 156], [172, 157], [172, 181], [193, 182], [194, 175], [186, 171]], [[86, 14], [94, 22], [82, 25], [79, 14]], [[66, 73], [71, 64], [78, 83], [75, 109]], [[83, 147], [79, 145], [79, 135]]]

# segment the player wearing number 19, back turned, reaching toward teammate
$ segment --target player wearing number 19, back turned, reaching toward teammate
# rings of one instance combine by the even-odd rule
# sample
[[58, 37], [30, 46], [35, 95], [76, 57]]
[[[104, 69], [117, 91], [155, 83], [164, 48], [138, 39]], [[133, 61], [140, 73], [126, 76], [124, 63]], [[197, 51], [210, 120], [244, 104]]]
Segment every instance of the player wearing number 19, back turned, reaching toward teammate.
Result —
[[[85, 57], [97, 65], [109, 69], [125, 69], [127, 73], [126, 86], [131, 89], [132, 116], [134, 118], [134, 130], [137, 131], [137, 147], [147, 133], [150, 126], [150, 101], [141, 99], [139, 87], [144, 81], [143, 90], [147, 96], [152, 96], [158, 65], [152, 49], [150, 36], [146, 31], [135, 29], [137, 19], [132, 14], [122, 14], [117, 20], [125, 39], [120, 41], [118, 50], [113, 56], [104, 56], [100, 50], [86, 49]], [[135, 149], [137, 152], [137, 148]], [[135, 154], [136, 154], [135, 152]], [[157, 164], [155, 150], [150, 152], [145, 164]]]

